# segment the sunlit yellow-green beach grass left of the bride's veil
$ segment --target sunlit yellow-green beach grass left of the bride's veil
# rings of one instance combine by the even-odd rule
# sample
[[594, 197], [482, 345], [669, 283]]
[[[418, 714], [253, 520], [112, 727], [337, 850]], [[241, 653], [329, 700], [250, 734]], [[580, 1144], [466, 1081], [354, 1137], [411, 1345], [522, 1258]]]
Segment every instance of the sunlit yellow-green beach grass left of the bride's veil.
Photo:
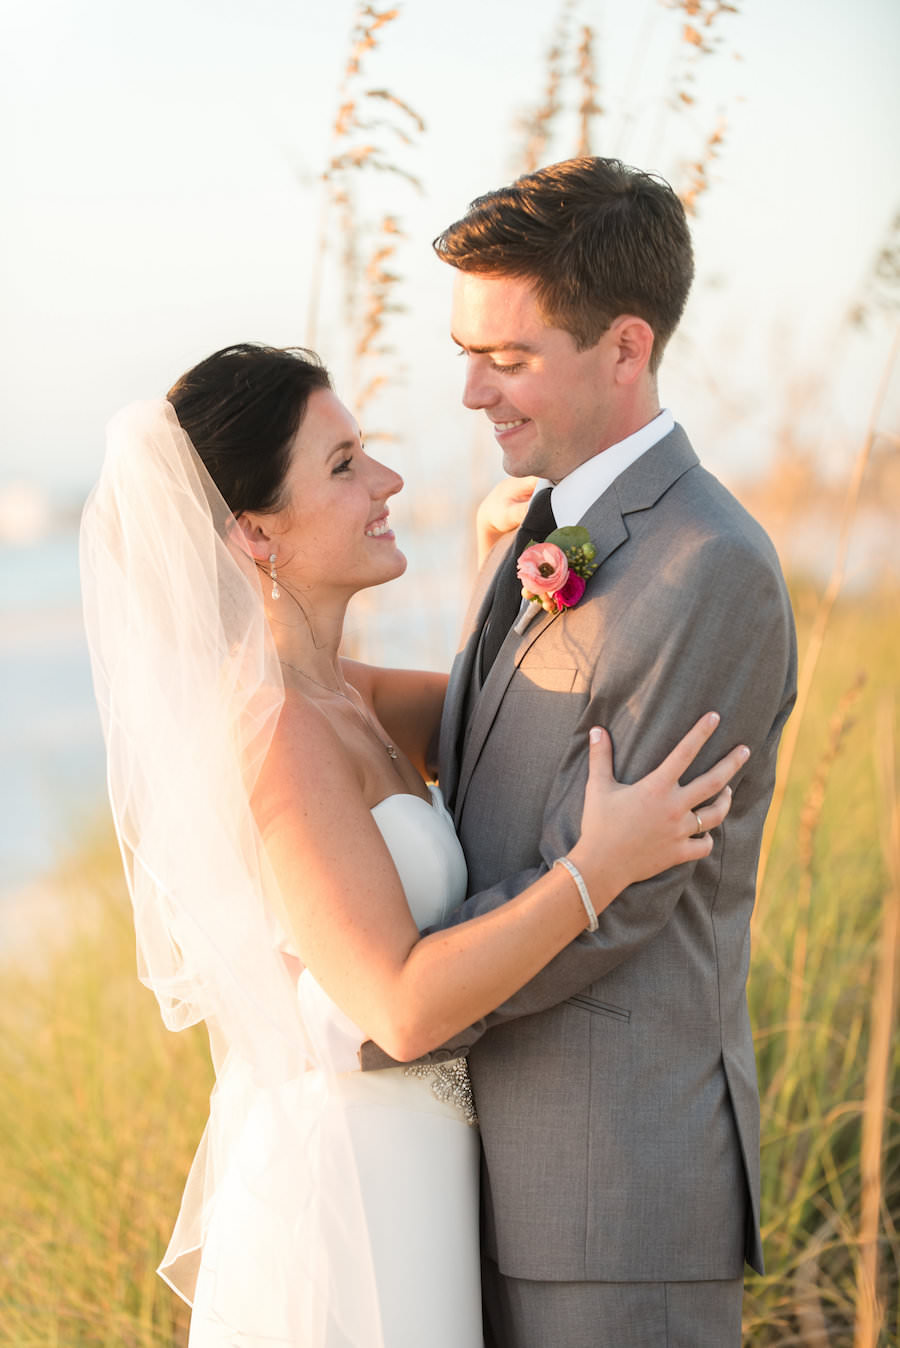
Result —
[[154, 1270], [206, 1116], [206, 1035], [168, 1034], [137, 983], [108, 826], [53, 886], [55, 917], [0, 971], [0, 1344], [168, 1348], [187, 1316]]

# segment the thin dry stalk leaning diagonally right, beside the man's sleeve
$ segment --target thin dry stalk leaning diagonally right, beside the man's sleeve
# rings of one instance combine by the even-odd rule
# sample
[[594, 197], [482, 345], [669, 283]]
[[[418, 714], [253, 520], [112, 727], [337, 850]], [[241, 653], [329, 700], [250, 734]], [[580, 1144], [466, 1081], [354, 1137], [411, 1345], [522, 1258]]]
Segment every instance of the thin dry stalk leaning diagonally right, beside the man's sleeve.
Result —
[[775, 791], [772, 794], [772, 805], [769, 807], [769, 814], [765, 825], [765, 834], [763, 838], [763, 847], [760, 849], [760, 864], [757, 871], [757, 898], [756, 909], [753, 911], [752, 919], [752, 933], [756, 936], [761, 930], [761, 921], [764, 913], [764, 880], [765, 871], [768, 867], [768, 860], [772, 852], [772, 838], [775, 830], [777, 829], [779, 817], [781, 814], [781, 807], [784, 805], [784, 795], [787, 791], [787, 783], [791, 776], [791, 766], [794, 763], [794, 755], [796, 752], [796, 744], [800, 735], [800, 727], [803, 725], [803, 717], [806, 714], [807, 704], [810, 700], [810, 689], [812, 686], [812, 679], [815, 675], [816, 666], [819, 663], [819, 656], [822, 654], [822, 646], [825, 643], [825, 634], [829, 627], [829, 619], [834, 608], [835, 600], [841, 593], [841, 586], [843, 585], [843, 576], [846, 572], [847, 550], [850, 546], [850, 532], [853, 530], [853, 522], [857, 512], [857, 506], [860, 500], [860, 491], [862, 487], [862, 479], [865, 476], [866, 465], [872, 454], [872, 445], [878, 434], [878, 421], [881, 418], [881, 410], [888, 395], [888, 388], [893, 375], [893, 367], [897, 360], [897, 352], [900, 350], [900, 328], [897, 328], [888, 360], [885, 361], [878, 390], [872, 404], [872, 414], [869, 417], [869, 426], [866, 434], [857, 452], [856, 462], [847, 481], [847, 489], [843, 500], [843, 515], [841, 520], [841, 530], [838, 534], [838, 546], [835, 551], [834, 565], [831, 568], [831, 576], [826, 590], [819, 600], [815, 619], [812, 621], [812, 628], [807, 642], [806, 651], [803, 654], [803, 661], [800, 665], [800, 673], [798, 678], [798, 694], [796, 704], [794, 706], [794, 713], [787, 724], [784, 732], [784, 739], [781, 741], [781, 749], [779, 755], [779, 771], [775, 783]]

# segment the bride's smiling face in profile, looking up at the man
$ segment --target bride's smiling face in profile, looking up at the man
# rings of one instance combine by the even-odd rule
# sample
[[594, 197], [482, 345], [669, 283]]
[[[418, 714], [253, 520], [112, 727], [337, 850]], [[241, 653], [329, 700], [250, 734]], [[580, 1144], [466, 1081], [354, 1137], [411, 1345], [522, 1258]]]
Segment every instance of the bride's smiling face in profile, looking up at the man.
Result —
[[329, 388], [317, 388], [291, 446], [283, 510], [255, 519], [271, 538], [279, 581], [309, 592], [354, 592], [401, 576], [388, 522], [403, 479], [366, 454], [360, 429]]

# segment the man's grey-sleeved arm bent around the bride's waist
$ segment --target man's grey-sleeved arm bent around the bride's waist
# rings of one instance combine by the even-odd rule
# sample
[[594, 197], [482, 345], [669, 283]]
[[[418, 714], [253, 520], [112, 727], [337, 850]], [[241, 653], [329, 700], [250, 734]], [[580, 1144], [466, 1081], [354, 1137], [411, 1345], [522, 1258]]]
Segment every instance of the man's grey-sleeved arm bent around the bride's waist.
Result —
[[[776, 566], [761, 565], [759, 558], [741, 558], [742, 565], [736, 565], [728, 546], [721, 555], [715, 549], [710, 553], [679, 578], [676, 593], [683, 603], [675, 615], [670, 612], [660, 620], [659, 605], [647, 600], [644, 650], [629, 662], [628, 687], [613, 690], [610, 697], [604, 678], [597, 678], [547, 801], [540, 865], [473, 895], [451, 922], [508, 902], [574, 845], [581, 830], [591, 724], [608, 727], [616, 775], [633, 782], [656, 767], [707, 710], [718, 710], [722, 723], [691, 775], [705, 771], [738, 743], [748, 744], [752, 756], [732, 783], [732, 818], [715, 830], [713, 856], [699, 864], [721, 867], [724, 849], [740, 845], [746, 852], [742, 864], [752, 892], [775, 755], [794, 700], [794, 624]], [[578, 937], [515, 996], [432, 1057], [443, 1061], [465, 1053], [490, 1026], [550, 1010], [604, 977], [662, 930], [694, 869], [682, 865], [632, 886], [605, 910], [597, 931]], [[385, 1066], [388, 1061], [376, 1045], [364, 1045], [364, 1068]]]

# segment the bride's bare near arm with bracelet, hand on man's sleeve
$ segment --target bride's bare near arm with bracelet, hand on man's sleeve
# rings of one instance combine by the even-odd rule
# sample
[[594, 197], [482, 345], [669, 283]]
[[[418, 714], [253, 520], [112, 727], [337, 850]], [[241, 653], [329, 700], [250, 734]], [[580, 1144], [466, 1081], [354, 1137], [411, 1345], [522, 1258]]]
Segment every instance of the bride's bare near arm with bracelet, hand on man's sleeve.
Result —
[[[612, 776], [609, 736], [591, 744], [585, 826], [569, 856], [598, 913], [631, 882], [709, 853], [709, 836], [690, 836], [691, 801], [721, 793], [742, 759], [733, 751], [690, 786], [678, 779], [713, 728], [705, 717], [633, 786]], [[422, 938], [354, 764], [303, 698], [284, 706], [253, 806], [303, 964], [397, 1061], [486, 1015], [587, 923], [573, 878], [552, 867], [493, 913]], [[703, 807], [707, 825], [728, 807], [722, 791]]]

